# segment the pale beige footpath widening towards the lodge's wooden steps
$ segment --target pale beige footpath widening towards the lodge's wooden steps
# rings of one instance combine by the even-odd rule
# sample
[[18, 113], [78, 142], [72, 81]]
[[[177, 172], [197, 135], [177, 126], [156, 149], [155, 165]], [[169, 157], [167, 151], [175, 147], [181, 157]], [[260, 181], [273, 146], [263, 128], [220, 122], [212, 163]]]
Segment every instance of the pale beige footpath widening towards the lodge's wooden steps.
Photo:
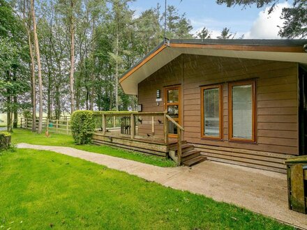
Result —
[[287, 178], [284, 174], [211, 161], [192, 168], [163, 168], [60, 146], [18, 144], [17, 148], [54, 151], [103, 164], [166, 187], [203, 194], [216, 201], [235, 204], [300, 229], [307, 229], [307, 215], [288, 209]]

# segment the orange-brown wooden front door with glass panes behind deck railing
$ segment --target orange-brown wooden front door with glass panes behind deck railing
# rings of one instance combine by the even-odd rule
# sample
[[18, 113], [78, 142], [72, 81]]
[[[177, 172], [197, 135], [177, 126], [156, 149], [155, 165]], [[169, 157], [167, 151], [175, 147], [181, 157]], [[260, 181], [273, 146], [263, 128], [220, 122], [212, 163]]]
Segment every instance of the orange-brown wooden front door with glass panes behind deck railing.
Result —
[[[181, 87], [170, 86], [164, 89], [164, 105], [167, 110], [167, 114], [170, 115], [174, 121], [181, 125]], [[170, 137], [177, 136], [177, 126], [174, 123], [169, 122], [168, 133]]]

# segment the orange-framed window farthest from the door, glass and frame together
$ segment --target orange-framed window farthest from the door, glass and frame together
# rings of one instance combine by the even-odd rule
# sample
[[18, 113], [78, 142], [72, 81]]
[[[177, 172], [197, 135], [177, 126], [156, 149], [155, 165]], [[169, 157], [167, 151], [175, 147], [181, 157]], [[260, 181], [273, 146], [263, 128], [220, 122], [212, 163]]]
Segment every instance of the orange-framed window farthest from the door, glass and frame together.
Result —
[[229, 84], [229, 139], [255, 142], [255, 81]]

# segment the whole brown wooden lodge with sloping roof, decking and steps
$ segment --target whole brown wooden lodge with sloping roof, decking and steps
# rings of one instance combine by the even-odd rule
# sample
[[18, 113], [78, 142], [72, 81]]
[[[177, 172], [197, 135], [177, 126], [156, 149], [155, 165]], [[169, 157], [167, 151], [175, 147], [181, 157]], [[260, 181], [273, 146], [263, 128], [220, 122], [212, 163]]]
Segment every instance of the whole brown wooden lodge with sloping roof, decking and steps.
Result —
[[165, 40], [120, 79], [139, 111], [99, 114], [93, 139], [179, 164], [285, 173], [285, 159], [307, 154], [305, 44]]

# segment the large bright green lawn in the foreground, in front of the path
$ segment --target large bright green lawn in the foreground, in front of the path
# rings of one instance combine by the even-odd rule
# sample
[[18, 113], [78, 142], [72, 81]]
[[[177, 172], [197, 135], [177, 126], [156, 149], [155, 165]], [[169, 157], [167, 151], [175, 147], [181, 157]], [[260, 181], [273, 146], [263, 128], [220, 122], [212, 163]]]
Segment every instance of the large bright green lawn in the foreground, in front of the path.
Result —
[[204, 196], [29, 149], [0, 153], [0, 207], [0, 229], [292, 229]]

